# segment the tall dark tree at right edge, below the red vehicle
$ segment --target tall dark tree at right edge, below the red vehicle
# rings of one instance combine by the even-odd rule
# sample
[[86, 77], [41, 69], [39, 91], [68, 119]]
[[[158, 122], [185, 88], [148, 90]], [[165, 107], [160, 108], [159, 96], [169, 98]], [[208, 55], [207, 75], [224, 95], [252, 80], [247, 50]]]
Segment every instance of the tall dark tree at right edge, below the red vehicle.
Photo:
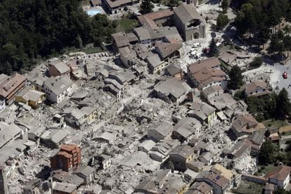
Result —
[[290, 115], [291, 105], [288, 92], [283, 88], [276, 98], [276, 119], [285, 120]]

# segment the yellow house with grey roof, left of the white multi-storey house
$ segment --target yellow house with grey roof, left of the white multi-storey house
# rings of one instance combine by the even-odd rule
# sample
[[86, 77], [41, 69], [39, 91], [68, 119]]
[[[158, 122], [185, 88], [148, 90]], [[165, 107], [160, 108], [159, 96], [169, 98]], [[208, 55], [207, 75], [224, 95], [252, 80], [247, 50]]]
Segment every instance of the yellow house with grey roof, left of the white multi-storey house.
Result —
[[34, 90], [32, 86], [26, 86], [16, 96], [15, 101], [18, 103], [25, 103], [32, 108], [37, 108], [40, 103], [46, 99], [45, 93]]

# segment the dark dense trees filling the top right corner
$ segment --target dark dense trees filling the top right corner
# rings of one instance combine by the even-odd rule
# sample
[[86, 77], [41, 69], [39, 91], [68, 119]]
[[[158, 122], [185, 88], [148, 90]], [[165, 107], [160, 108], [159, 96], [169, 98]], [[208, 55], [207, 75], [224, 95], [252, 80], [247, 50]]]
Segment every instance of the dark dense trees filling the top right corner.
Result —
[[[269, 39], [272, 44], [269, 53], [290, 51], [290, 0], [240, 0], [235, 26], [238, 34], [249, 34], [252, 44], [263, 45]], [[281, 30], [276, 26], [285, 20]], [[275, 36], [271, 36], [275, 34]]]

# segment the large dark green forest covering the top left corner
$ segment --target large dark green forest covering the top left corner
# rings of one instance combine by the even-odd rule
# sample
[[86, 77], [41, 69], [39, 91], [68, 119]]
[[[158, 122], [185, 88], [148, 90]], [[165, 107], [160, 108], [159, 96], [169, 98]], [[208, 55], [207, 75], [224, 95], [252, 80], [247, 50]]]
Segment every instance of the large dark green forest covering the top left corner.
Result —
[[101, 44], [116, 27], [105, 15], [89, 18], [79, 0], [1, 0], [0, 18], [0, 73], [8, 75], [65, 48]]

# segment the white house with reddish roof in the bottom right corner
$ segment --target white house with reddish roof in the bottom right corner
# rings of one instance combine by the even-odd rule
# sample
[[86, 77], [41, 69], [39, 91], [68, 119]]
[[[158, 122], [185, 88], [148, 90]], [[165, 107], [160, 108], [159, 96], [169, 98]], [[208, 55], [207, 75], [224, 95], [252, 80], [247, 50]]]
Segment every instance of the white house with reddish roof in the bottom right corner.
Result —
[[290, 174], [291, 167], [280, 165], [269, 174], [266, 174], [265, 178], [269, 180], [269, 183], [279, 188], [287, 188], [290, 186]]

